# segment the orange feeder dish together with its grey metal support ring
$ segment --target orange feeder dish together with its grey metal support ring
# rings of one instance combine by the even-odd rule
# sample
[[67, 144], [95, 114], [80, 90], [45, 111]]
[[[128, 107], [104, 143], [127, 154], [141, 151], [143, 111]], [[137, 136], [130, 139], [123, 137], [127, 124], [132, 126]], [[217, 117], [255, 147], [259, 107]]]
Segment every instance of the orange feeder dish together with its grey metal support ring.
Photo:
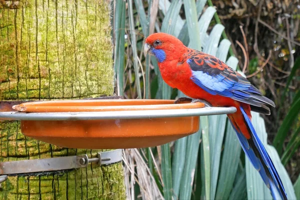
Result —
[[232, 113], [201, 102], [158, 99], [51, 100], [12, 106], [0, 119], [20, 120], [28, 137], [68, 148], [138, 148], [196, 132], [199, 115]]

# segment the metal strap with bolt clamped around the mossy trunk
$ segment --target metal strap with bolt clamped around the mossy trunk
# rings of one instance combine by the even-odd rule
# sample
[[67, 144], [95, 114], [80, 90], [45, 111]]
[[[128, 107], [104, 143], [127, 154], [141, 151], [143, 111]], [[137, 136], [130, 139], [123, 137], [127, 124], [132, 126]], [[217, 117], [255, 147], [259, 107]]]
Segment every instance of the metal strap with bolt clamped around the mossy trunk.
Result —
[[[45, 159], [29, 159], [19, 161], [0, 162], [0, 174], [26, 174], [43, 171], [58, 171], [86, 167], [89, 162], [99, 165], [115, 163], [122, 160], [122, 149], [98, 152], [97, 157], [88, 158], [87, 155], [73, 155], [52, 157]], [[0, 176], [0, 182], [2, 181]], [[4, 177], [3, 177], [4, 178]], [[7, 178], [6, 178], [7, 179]], [[3, 180], [5, 181], [5, 180]]]

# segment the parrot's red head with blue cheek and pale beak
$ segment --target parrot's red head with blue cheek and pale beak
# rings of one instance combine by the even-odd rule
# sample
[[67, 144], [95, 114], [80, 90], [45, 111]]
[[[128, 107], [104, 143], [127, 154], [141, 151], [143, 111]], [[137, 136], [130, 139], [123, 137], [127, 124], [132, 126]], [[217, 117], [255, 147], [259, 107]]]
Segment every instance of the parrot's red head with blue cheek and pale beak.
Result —
[[154, 55], [158, 62], [163, 62], [178, 57], [183, 48], [186, 47], [176, 37], [158, 32], [146, 38], [144, 52]]

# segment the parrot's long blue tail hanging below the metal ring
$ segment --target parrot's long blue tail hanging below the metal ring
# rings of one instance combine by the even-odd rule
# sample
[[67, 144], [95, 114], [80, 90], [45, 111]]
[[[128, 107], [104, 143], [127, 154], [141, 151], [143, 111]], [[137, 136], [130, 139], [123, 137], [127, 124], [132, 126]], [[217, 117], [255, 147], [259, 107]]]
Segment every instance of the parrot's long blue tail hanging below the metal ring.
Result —
[[241, 106], [239, 108], [244, 117], [244, 122], [247, 126], [248, 132], [250, 133], [251, 137], [247, 139], [238, 129], [238, 126], [236, 126], [236, 122], [231, 121], [231, 117], [229, 117], [229, 119], [234, 130], [236, 131], [242, 149], [251, 161], [252, 165], [259, 172], [266, 186], [270, 189], [272, 197], [274, 199], [287, 199], [278, 172], [276, 171], [275, 166], [270, 156], [266, 152], [263, 144], [258, 138], [250, 118], [247, 116], [247, 114]]

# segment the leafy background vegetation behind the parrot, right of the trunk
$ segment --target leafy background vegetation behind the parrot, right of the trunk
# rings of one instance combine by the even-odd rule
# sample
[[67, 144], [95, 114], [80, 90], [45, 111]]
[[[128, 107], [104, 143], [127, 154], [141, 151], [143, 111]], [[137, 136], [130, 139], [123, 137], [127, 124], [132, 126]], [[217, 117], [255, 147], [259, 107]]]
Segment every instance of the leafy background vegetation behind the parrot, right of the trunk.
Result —
[[[299, 199], [298, 2], [112, 3], [116, 93], [126, 98], [175, 99], [183, 95], [163, 82], [156, 60], [143, 54], [144, 38], [153, 32], [172, 34], [185, 45], [237, 67], [276, 104], [269, 116], [252, 113], [253, 124], [279, 171], [288, 198]], [[271, 199], [258, 172], [245, 159], [226, 116], [205, 116], [200, 122], [199, 132], [188, 137], [162, 146], [125, 150], [127, 196]]]

